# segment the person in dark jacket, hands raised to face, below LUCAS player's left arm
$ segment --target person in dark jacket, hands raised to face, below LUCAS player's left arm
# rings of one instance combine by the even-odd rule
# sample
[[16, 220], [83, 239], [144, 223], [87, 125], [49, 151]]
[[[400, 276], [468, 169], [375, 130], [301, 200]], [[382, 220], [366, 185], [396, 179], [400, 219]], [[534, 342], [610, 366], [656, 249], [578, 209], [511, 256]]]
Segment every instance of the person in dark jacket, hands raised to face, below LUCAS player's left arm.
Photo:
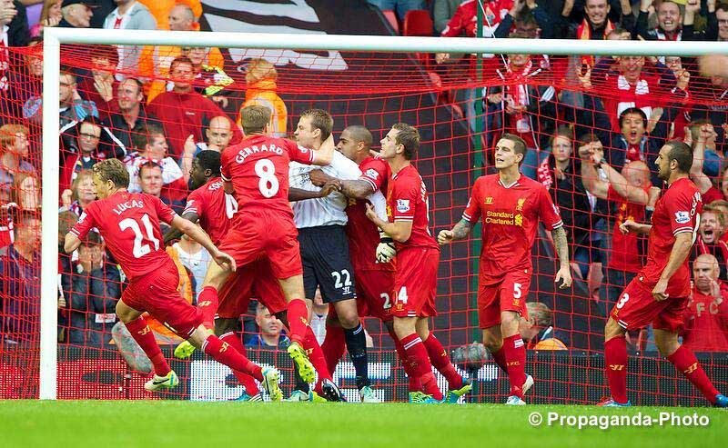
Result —
[[107, 262], [106, 244], [101, 236], [90, 232], [78, 247], [76, 272], [71, 274], [71, 292], [66, 300], [67, 342], [87, 347], [108, 344], [120, 296], [119, 269]]

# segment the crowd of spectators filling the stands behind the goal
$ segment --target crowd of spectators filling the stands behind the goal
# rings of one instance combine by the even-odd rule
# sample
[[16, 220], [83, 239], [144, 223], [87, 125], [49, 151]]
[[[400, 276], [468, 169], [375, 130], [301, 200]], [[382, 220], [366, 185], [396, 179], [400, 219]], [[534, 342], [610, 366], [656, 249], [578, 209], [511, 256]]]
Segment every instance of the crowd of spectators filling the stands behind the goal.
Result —
[[[476, 35], [475, 0], [367, 1], [394, 11], [402, 22], [412, 10], [430, 11], [433, 35]], [[29, 14], [26, 5], [34, 3], [27, 6], [35, 9]], [[39, 274], [44, 101], [39, 43], [44, 29], [197, 31], [201, 11], [196, 0], [0, 0], [0, 314], [5, 316], [0, 333], [6, 340], [15, 341], [18, 329], [28, 324], [18, 316], [34, 311], [18, 310], [18, 304], [37, 307], [37, 301], [23, 298], [39, 296], [29, 280]], [[728, 3], [721, 0], [492, 0], [483, 12], [489, 38], [728, 41]], [[78, 64], [69, 57], [77, 57]], [[429, 69], [473, 85], [480, 77], [475, 59], [439, 54]], [[100, 160], [124, 161], [130, 191], [157, 195], [181, 212], [193, 158], [239, 141], [241, 107], [268, 106], [272, 132], [288, 135], [288, 108], [277, 94], [278, 69], [266, 59], [247, 61], [244, 83], [227, 75], [230, 68], [217, 48], [74, 47], [64, 62], [58, 80], [62, 222], [73, 222], [95, 199], [89, 169]], [[617, 229], [626, 219], [649, 220], [662, 188], [654, 167], [657, 153], [672, 138], [693, 146], [691, 176], [706, 207], [692, 255], [694, 318], [685, 338], [700, 340], [695, 334], [708, 325], [728, 334], [721, 293], [728, 280], [728, 165], [723, 164], [728, 79], [703, 77], [692, 58], [673, 56], [490, 55], [482, 67], [483, 85], [440, 97], [460, 103], [471, 133], [481, 132], [486, 148], [503, 132], [528, 143], [523, 174], [544, 184], [561, 207], [574, 273], [588, 282], [604, 314], [643, 263], [642, 238]], [[242, 90], [245, 95], [232, 95]], [[14, 225], [5, 225], [7, 216]], [[194, 303], [207, 253], [186, 239], [168, 251], [180, 267], [180, 288]], [[114, 304], [125, 278], [104, 242], [89, 238], [76, 254], [62, 256], [60, 266], [63, 341], [110, 343]], [[710, 284], [703, 280], [708, 277]], [[265, 313], [258, 308], [257, 321], [268, 331], [273, 324]], [[320, 309], [317, 313], [324, 315]], [[6, 318], [12, 315], [17, 318]], [[530, 322], [526, 334], [533, 344], [538, 332], [551, 326], [544, 322], [551, 321]], [[559, 339], [568, 344], [568, 337]], [[728, 350], [726, 339], [716, 344]], [[258, 344], [272, 341], [268, 335], [258, 338]]]

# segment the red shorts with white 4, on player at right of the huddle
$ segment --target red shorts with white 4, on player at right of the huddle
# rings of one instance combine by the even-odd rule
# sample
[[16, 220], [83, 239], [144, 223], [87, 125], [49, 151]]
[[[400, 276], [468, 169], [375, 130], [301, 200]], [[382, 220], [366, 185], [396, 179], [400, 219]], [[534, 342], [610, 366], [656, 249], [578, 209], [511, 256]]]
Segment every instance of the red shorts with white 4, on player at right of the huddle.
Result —
[[397, 254], [394, 274], [395, 317], [430, 317], [438, 315], [435, 296], [438, 294], [440, 251], [429, 247], [408, 248]]

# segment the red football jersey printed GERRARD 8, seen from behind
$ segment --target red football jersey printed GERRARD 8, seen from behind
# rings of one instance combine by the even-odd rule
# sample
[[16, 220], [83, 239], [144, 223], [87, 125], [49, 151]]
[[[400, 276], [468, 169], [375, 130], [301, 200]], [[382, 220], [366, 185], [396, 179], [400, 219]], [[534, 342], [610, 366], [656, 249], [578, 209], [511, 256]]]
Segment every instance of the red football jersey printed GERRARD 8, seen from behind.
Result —
[[284, 138], [253, 135], [228, 146], [221, 174], [235, 187], [238, 209], [260, 205], [293, 216], [288, 204], [288, 163], [312, 164], [313, 151]]

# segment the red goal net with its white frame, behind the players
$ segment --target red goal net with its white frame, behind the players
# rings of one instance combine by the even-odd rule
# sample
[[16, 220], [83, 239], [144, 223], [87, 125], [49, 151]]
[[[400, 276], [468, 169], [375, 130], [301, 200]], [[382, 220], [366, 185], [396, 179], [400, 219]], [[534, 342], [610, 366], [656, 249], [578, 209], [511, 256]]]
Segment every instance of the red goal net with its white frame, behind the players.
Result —
[[[651, 184], [657, 191], [662, 187], [650, 165], [662, 143], [690, 138], [691, 123], [711, 123], [715, 144], [698, 170], [704, 174], [701, 180], [707, 180], [705, 192], [713, 188], [711, 197], [724, 200], [719, 159], [728, 83], [699, 75], [692, 57], [702, 51], [698, 44], [671, 43], [681, 44], [676, 48], [685, 53], [679, 57], [671, 48], [671, 56], [665, 57], [665, 46], [636, 42], [599, 42], [590, 50], [591, 43], [551, 41], [571, 46], [547, 47], [527, 39], [480, 40], [476, 48], [469, 39], [90, 35], [80, 45], [76, 37], [57, 34], [59, 54], [54, 52], [58, 41], [49, 42], [46, 36], [45, 71], [41, 45], [8, 50], [0, 154], [4, 166], [17, 166], [0, 170], [5, 194], [0, 224], [5, 247], [0, 272], [2, 398], [232, 400], [242, 395], [242, 385], [227, 367], [199, 353], [190, 360], [174, 359], [172, 350], [180, 340], [162, 324], [152, 327], [181, 384], [171, 393], [145, 393], [142, 385], [151, 365], [114, 314], [125, 274], [98, 237], [75, 254], [59, 255], [56, 249], [56, 234], [62, 237], [93, 201], [87, 170], [104, 158], [125, 161], [132, 188], [159, 194], [181, 213], [189, 193], [190, 157], [235, 144], [242, 105], [271, 107], [271, 124], [283, 136], [292, 136], [301, 112], [327, 110], [337, 140], [345, 127], [364, 125], [373, 135], [374, 150], [392, 124], [416, 126], [421, 145], [414, 164], [428, 188], [433, 234], [460, 221], [474, 180], [493, 172], [491, 154], [498, 137], [509, 132], [524, 138], [529, 151], [522, 172], [544, 184], [561, 208], [575, 279], [569, 290], [554, 288], [555, 254], [550, 235], [541, 229], [524, 297], [530, 315], [521, 323], [527, 372], [537, 378], [534, 403], [594, 403], [608, 394], [603, 327], [624, 284], [644, 260], [644, 242], [620, 237], [615, 224], [630, 218], [644, 222], [653, 203], [625, 199], [625, 185], [610, 185], [615, 181], [606, 166], [594, 167], [602, 163], [594, 154], [603, 151], [603, 164], [647, 196]], [[123, 64], [129, 51], [140, 55], [132, 68]], [[652, 52], [656, 57], [581, 56], [588, 51]], [[473, 54], [479, 52], [502, 53], [478, 59]], [[435, 53], [450, 57], [436, 58]], [[557, 54], [544, 55], [549, 53]], [[180, 64], [180, 57], [191, 65]], [[442, 59], [446, 61], [439, 64]], [[185, 85], [195, 94], [186, 93]], [[56, 95], [60, 110], [49, 116], [46, 109], [55, 105], [43, 103]], [[583, 160], [580, 148], [590, 152]], [[12, 154], [8, 162], [5, 154]], [[722, 241], [724, 214], [728, 207], [715, 212], [713, 234], [703, 234], [693, 254], [720, 258], [723, 277], [728, 259], [717, 241]], [[714, 244], [711, 236], [717, 238]], [[206, 254], [187, 241], [169, 244], [167, 252], [179, 267], [180, 294], [195, 304]], [[468, 400], [501, 402], [508, 395], [507, 376], [480, 344], [479, 254], [479, 227], [470, 239], [442, 250], [440, 314], [431, 326], [453, 363], [473, 379]], [[717, 336], [701, 333], [700, 327], [706, 313], [723, 322], [723, 308], [718, 308], [710, 301], [691, 304], [684, 337], [703, 343], [695, 351], [701, 352], [716, 387], [724, 390], [728, 347], [705, 343]], [[317, 311], [313, 321], [321, 319], [321, 309]], [[290, 391], [292, 365], [285, 350], [261, 348], [261, 341], [275, 343], [271, 328], [276, 325], [266, 321], [255, 301], [240, 322], [239, 336], [251, 347], [248, 356], [278, 366], [283, 388]], [[386, 400], [404, 400], [407, 378], [386, 328], [375, 318], [365, 322], [372, 339], [371, 379]], [[724, 324], [722, 328], [726, 331]], [[637, 403], [702, 403], [672, 364], [656, 353], [650, 327], [629, 334], [629, 342], [633, 355], [628, 385]], [[348, 361], [339, 363], [335, 380], [354, 398], [358, 395]]]

